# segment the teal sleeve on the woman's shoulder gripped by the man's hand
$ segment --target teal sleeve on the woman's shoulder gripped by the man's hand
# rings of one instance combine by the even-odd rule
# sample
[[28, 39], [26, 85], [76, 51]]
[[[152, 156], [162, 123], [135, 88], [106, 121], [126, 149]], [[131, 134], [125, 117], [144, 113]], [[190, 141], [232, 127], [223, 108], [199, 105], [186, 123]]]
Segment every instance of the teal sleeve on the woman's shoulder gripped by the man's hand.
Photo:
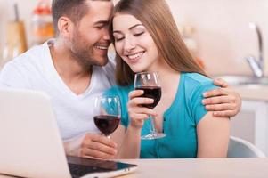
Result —
[[202, 104], [204, 99], [203, 93], [218, 88], [213, 85], [212, 81], [206, 81], [202, 84], [197, 85], [191, 93], [191, 113], [194, 118], [194, 122], [198, 125], [199, 121], [207, 114], [207, 109]]

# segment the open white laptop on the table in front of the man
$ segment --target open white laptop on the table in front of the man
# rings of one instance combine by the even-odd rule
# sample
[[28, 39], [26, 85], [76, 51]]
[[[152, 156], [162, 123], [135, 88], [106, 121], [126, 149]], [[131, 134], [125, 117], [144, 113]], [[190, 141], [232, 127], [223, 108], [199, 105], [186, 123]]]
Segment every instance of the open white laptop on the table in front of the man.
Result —
[[34, 91], [0, 90], [0, 174], [113, 177], [136, 168], [109, 160], [66, 157], [50, 97]]

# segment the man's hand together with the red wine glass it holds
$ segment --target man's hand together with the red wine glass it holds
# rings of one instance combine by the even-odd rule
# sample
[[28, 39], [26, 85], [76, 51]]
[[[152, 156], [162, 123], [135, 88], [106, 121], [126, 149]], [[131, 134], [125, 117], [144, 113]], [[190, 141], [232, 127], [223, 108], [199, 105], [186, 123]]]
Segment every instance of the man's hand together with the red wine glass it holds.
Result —
[[[83, 138], [75, 139], [75, 142], [65, 142], [65, 148], [69, 148], [68, 153], [73, 156], [101, 159], [115, 158], [118, 148], [116, 142], [110, 140], [110, 134], [118, 128], [121, 119], [121, 106], [118, 96], [97, 97], [93, 119], [102, 134], [85, 134]], [[80, 142], [77, 142], [79, 140]]]

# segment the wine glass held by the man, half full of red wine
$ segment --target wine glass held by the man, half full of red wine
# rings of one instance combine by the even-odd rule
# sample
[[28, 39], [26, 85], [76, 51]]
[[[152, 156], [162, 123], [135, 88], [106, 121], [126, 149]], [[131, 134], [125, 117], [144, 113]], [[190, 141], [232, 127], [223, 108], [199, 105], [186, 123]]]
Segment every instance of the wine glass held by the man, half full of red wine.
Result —
[[94, 123], [110, 139], [120, 123], [121, 105], [118, 96], [102, 95], [94, 104]]

